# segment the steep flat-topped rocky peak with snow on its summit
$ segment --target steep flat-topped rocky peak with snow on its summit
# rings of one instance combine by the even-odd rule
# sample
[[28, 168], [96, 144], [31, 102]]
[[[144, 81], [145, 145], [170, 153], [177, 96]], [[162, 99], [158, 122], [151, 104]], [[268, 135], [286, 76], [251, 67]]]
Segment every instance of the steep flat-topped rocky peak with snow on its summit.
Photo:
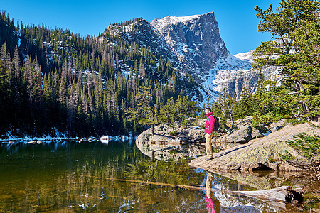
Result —
[[213, 12], [184, 17], [166, 16], [151, 21], [154, 31], [166, 40], [178, 58], [179, 68], [198, 77], [208, 75], [219, 59], [230, 55], [220, 37]]

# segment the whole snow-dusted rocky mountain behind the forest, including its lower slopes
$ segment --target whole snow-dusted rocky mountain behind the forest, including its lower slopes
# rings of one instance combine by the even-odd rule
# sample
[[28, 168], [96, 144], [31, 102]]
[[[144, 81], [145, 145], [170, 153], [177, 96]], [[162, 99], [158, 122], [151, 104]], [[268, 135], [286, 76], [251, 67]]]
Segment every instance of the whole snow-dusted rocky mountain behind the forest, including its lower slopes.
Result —
[[[203, 100], [209, 92], [235, 93], [239, 99], [243, 87], [257, 88], [259, 73], [251, 69], [252, 53], [231, 55], [220, 37], [213, 12], [203, 15], [154, 19], [151, 23], [140, 18], [127, 26], [108, 28], [129, 43], [148, 47], [162, 55], [182, 75], [191, 75], [202, 85]], [[266, 68], [266, 75], [274, 75], [274, 68]], [[273, 73], [273, 74], [272, 74]]]

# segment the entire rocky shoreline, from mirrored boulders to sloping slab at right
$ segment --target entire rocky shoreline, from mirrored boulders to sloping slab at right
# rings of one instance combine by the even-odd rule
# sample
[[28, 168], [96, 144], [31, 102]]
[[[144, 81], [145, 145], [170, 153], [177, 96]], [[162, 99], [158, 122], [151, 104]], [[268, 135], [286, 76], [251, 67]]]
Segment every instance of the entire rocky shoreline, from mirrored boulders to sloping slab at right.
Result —
[[[201, 121], [202, 122], [202, 121]], [[201, 123], [200, 122], [200, 123]], [[320, 136], [320, 123], [314, 122], [285, 126], [283, 121], [270, 126], [270, 129], [255, 128], [250, 119], [235, 123], [233, 133], [218, 133], [213, 139], [215, 159], [206, 161], [203, 129], [176, 126], [176, 135], [170, 136], [172, 128], [167, 124], [144, 131], [137, 137], [140, 150], [151, 158], [167, 160], [169, 158], [195, 158], [189, 165], [208, 171], [215, 170], [274, 170], [274, 171], [310, 171], [319, 170], [320, 157], [307, 160], [301, 153], [287, 144], [299, 133]], [[271, 132], [272, 131], [272, 132]], [[271, 132], [271, 133], [270, 133]], [[188, 146], [197, 144], [198, 146]], [[194, 148], [196, 147], [196, 148]], [[290, 153], [294, 160], [283, 160], [282, 156]]]

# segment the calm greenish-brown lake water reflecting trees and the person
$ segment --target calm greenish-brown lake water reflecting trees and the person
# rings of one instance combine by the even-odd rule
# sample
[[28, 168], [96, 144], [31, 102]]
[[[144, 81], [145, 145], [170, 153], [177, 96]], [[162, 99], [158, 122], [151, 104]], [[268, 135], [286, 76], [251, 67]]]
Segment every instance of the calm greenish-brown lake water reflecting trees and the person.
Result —
[[130, 141], [1, 143], [0, 212], [284, 211], [223, 193], [255, 189], [190, 160], [151, 162]]

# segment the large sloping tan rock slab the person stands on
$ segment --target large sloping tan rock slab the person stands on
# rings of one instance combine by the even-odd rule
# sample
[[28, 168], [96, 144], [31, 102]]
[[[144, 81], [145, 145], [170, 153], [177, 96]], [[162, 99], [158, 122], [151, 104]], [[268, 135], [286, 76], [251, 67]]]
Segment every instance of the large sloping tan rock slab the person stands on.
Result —
[[[313, 123], [320, 126], [320, 123]], [[296, 126], [287, 126], [279, 131], [270, 133], [263, 138], [256, 138], [243, 145], [228, 148], [215, 153], [215, 159], [206, 161], [206, 156], [191, 160], [189, 165], [204, 170], [280, 170], [280, 171], [304, 171], [312, 165], [308, 163], [298, 151], [287, 145], [288, 140], [293, 140], [299, 133], [320, 136], [320, 127], [314, 127], [309, 123]], [[303, 165], [287, 163], [281, 155], [291, 153], [296, 161]], [[272, 159], [272, 160], [270, 160]], [[305, 162], [302, 162], [302, 161]], [[302, 163], [301, 163], [302, 162]]]

